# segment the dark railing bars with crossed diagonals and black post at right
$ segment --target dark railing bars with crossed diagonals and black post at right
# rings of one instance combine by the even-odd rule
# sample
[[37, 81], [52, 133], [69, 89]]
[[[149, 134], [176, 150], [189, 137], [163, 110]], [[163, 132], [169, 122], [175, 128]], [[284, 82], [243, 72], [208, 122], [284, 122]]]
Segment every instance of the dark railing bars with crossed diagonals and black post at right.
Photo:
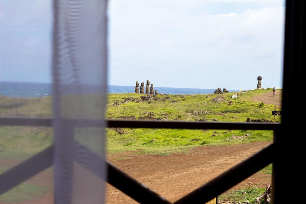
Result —
[[[305, 22], [306, 2], [303, 0], [287, 0], [285, 11], [285, 43], [284, 43], [284, 69], [283, 69], [283, 96], [289, 96], [295, 88], [301, 88], [302, 69], [306, 67], [305, 63]], [[285, 159], [299, 153], [300, 144], [288, 143], [283, 136], [286, 134], [300, 133], [299, 128], [303, 127], [302, 121], [294, 121], [299, 128], [289, 129], [293, 124], [292, 118], [298, 118], [299, 112], [295, 111], [294, 101], [289, 97], [282, 97], [282, 124], [257, 124], [257, 123], [226, 123], [226, 122], [182, 122], [182, 121], [124, 121], [108, 120], [107, 127], [129, 127], [129, 128], [179, 128], [179, 129], [249, 129], [249, 130], [273, 130], [274, 142], [268, 147], [260, 150], [238, 165], [222, 173], [207, 184], [199, 187], [187, 196], [179, 199], [175, 203], [205, 203], [216, 197], [221, 191], [226, 191], [230, 187], [238, 184], [248, 176], [257, 172], [259, 169], [273, 163], [272, 167], [272, 203], [281, 203], [284, 199], [287, 189], [282, 185], [293, 184], [302, 175], [303, 169], [289, 169], [288, 173], [295, 173], [292, 177], [283, 177], [282, 169], [284, 165], [293, 165], [294, 160]], [[88, 124], [99, 126], [95, 121], [88, 121]], [[45, 118], [0, 118], [0, 125], [11, 126], [46, 126], [52, 127], [52, 119]], [[285, 155], [283, 148], [287, 147], [291, 152]], [[294, 148], [295, 147], [295, 148]], [[80, 147], [81, 148], [81, 147]], [[288, 153], [288, 152], [286, 152]], [[264, 155], [271, 155], [269, 158], [262, 159]], [[21, 162], [15, 167], [3, 172], [0, 175], [0, 195], [14, 186], [22, 183], [37, 173], [52, 166], [53, 145], [45, 150], [35, 154], [31, 158]], [[93, 155], [94, 156], [94, 155]], [[42, 159], [45, 162], [37, 164]], [[103, 161], [102, 161], [103, 162]], [[244, 168], [256, 162], [256, 168]], [[170, 203], [162, 196], [134, 180], [121, 170], [111, 165], [108, 161], [108, 182], [118, 188], [131, 198], [140, 203]], [[253, 165], [254, 166], [254, 165]], [[95, 173], [94, 169], [91, 169]], [[242, 173], [243, 175], [241, 175]], [[120, 178], [120, 180], [118, 180]], [[126, 181], [127, 184], [125, 184]], [[135, 187], [135, 190], [131, 188]], [[225, 185], [222, 187], [222, 185]], [[139, 193], [143, 192], [143, 194]]]

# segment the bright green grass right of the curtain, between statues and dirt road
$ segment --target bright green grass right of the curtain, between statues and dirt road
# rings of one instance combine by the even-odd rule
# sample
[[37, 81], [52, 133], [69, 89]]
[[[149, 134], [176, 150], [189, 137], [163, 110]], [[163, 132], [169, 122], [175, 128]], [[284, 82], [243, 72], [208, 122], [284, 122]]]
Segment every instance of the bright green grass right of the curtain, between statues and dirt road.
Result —
[[[155, 117], [162, 117], [167, 120], [198, 121], [204, 119], [207, 121], [230, 121], [245, 122], [247, 118], [274, 120], [271, 110], [273, 105], [261, 104], [252, 101], [252, 97], [270, 90], [249, 91], [243, 96], [231, 99], [233, 93], [223, 94], [223, 102], [212, 102], [211, 99], [217, 95], [158, 95], [158, 99], [171, 97], [164, 102], [158, 100], [129, 102], [120, 106], [111, 106], [114, 102], [122, 102], [124, 98], [137, 98], [138, 94], [110, 94], [108, 99], [108, 109], [106, 117], [119, 119], [121, 116], [143, 117], [152, 113]], [[228, 102], [232, 105], [228, 106]], [[207, 111], [198, 113], [194, 111]], [[148, 112], [148, 113], [146, 113]], [[165, 116], [165, 114], [167, 116]], [[280, 121], [280, 116], [276, 117]], [[233, 145], [239, 143], [251, 143], [260, 141], [271, 141], [272, 131], [250, 131], [250, 130], [184, 130], [184, 129], [124, 129], [129, 132], [126, 135], [119, 135], [115, 130], [107, 131], [107, 150], [108, 152], [137, 151], [137, 153], [149, 154], [167, 154], [173, 151], [184, 151], [188, 147], [202, 145]], [[217, 132], [217, 133], [214, 133]], [[226, 133], [223, 133], [226, 132]], [[241, 136], [246, 133], [252, 133], [244, 140], [227, 140], [233, 134]], [[212, 135], [216, 135], [211, 137]], [[155, 139], [154, 142], [150, 142]]]

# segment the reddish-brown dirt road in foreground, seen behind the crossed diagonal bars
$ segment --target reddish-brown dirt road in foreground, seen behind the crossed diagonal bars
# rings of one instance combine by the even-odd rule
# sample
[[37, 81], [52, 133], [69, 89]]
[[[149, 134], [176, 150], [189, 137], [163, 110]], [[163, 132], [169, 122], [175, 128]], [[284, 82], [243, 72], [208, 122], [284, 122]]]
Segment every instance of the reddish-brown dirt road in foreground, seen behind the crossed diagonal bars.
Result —
[[[169, 155], [135, 155], [132, 152], [123, 152], [109, 154], [108, 160], [169, 201], [174, 202], [269, 144], [271, 142], [203, 146], [191, 148], [188, 153]], [[0, 165], [17, 163], [19, 162], [0, 160]], [[265, 187], [265, 184], [270, 183], [270, 179], [271, 177], [267, 177], [266, 174], [256, 173], [232, 189], [248, 187], [249, 182], [258, 183], [257, 187]], [[50, 191], [42, 197], [21, 202], [22, 204], [53, 203], [52, 172], [42, 172], [26, 182], [50, 187]], [[110, 185], [107, 185], [106, 202], [111, 204], [136, 203]]]

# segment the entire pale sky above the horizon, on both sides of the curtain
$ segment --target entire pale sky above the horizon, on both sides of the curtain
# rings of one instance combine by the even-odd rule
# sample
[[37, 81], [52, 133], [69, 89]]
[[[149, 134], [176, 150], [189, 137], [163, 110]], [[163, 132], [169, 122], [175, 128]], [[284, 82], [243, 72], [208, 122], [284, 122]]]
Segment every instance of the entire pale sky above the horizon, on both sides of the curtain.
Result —
[[[0, 81], [51, 79], [52, 2], [0, 2]], [[283, 0], [110, 0], [108, 84], [282, 87]]]

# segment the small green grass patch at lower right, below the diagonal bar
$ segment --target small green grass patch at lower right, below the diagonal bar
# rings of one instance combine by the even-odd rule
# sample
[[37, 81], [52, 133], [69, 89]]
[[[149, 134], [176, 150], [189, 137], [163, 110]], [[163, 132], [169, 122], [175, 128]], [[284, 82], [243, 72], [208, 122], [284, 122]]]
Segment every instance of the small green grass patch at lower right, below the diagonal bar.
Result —
[[[262, 200], [261, 202], [255, 202], [256, 198], [262, 195], [266, 191], [265, 188], [257, 188], [256, 186], [249, 186], [248, 188], [242, 188], [236, 191], [227, 191], [218, 196], [219, 200], [227, 200], [231, 202], [244, 202], [248, 200], [250, 203], [264, 203]], [[246, 192], [246, 194], [243, 194]], [[227, 199], [225, 199], [227, 198]]]

